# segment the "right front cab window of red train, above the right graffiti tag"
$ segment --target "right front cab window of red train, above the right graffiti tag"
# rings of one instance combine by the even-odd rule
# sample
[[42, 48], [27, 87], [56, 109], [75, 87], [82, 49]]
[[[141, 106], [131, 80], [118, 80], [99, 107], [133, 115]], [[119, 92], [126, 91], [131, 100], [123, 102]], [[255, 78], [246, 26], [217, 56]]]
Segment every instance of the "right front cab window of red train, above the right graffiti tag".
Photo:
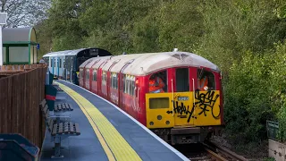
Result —
[[214, 90], [215, 80], [214, 73], [204, 69], [198, 69], [198, 89], [199, 90]]

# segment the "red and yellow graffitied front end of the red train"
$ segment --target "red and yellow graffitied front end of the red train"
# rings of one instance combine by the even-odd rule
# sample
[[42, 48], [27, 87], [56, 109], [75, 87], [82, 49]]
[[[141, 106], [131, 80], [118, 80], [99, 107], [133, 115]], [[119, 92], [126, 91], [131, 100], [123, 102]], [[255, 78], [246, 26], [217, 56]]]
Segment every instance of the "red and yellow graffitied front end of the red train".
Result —
[[223, 128], [222, 77], [206, 66], [176, 66], [142, 80], [146, 126], [175, 144], [203, 142]]

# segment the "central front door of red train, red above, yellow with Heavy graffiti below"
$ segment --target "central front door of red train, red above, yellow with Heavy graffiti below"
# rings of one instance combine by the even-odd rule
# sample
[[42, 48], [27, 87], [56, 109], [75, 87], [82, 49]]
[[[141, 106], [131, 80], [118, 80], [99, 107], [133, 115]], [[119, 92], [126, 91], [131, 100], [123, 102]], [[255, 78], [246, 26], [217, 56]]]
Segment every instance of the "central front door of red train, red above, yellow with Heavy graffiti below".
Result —
[[174, 126], [185, 126], [194, 124], [195, 106], [194, 92], [192, 92], [189, 67], [172, 69], [172, 109]]

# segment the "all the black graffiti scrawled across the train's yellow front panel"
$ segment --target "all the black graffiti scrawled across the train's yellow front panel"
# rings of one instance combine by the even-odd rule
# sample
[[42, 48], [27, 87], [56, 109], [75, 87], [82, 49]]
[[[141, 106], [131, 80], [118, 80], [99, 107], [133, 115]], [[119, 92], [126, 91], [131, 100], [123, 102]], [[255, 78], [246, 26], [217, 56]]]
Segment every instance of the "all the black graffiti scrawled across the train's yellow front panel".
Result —
[[[215, 95], [214, 91], [200, 92], [196, 90], [195, 92], [195, 103], [190, 105], [186, 105], [184, 100], [188, 99], [180, 99], [177, 101], [172, 100], [172, 107], [174, 114], [177, 114], [177, 117], [182, 119], [188, 118], [187, 123], [189, 123], [191, 118], [197, 119], [197, 116], [194, 115], [195, 109], [198, 110], [198, 115], [204, 114], [212, 114], [214, 119], [219, 119], [220, 117], [220, 109], [218, 109], [219, 113], [214, 114], [214, 104], [216, 100], [220, 96], [218, 94]], [[220, 108], [218, 106], [218, 108]], [[167, 111], [167, 114], [172, 114], [172, 111]]]

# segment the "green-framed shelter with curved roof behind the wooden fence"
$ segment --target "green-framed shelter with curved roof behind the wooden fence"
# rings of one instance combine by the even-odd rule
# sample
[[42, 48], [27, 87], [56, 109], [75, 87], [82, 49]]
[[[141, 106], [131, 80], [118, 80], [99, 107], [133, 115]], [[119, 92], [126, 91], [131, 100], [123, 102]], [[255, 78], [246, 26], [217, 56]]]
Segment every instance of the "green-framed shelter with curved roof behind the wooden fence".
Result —
[[37, 36], [34, 28], [4, 28], [3, 64], [37, 64]]

